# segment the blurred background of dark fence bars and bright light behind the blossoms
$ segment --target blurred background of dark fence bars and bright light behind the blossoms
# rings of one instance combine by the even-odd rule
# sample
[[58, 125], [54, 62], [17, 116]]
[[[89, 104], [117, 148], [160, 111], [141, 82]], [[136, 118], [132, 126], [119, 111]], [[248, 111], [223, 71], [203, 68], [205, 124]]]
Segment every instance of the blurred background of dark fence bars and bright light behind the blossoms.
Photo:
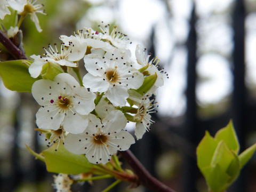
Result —
[[[233, 119], [241, 151], [256, 141], [256, 1], [255, 0], [42, 0], [38, 33], [28, 18], [22, 23], [26, 55], [60, 43], [60, 35], [105, 24], [129, 36], [133, 55], [138, 43], [157, 56], [169, 79], [158, 89], [158, 113], [151, 132], [131, 150], [146, 169], [171, 188], [206, 192], [196, 165], [196, 146], [208, 130], [214, 135]], [[133, 56], [135, 57], [135, 56]], [[34, 131], [39, 105], [30, 93], [0, 85], [0, 191], [54, 191], [52, 173], [29, 154], [46, 148]], [[134, 129], [134, 125], [127, 127]], [[228, 192], [256, 191], [256, 156]], [[75, 185], [73, 191], [100, 191], [113, 180]], [[121, 183], [111, 191], [127, 189]]]

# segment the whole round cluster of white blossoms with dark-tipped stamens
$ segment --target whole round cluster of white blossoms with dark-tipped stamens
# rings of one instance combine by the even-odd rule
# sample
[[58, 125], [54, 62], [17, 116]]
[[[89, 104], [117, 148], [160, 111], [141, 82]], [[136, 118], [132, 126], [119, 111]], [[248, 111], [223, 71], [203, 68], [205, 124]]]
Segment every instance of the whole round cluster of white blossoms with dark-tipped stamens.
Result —
[[[49, 145], [52, 140], [65, 140], [71, 153], [85, 154], [94, 164], [105, 164], [118, 150], [127, 150], [135, 142], [124, 130], [127, 122], [135, 122], [137, 139], [150, 130], [156, 102], [149, 97], [164, 81], [158, 60], [149, 60], [144, 47], [137, 45], [134, 61], [126, 35], [116, 27], [110, 31], [103, 23], [99, 27], [101, 32], [85, 28], [69, 37], [61, 35], [60, 50], [56, 44], [55, 49], [49, 45], [43, 56], [31, 55], [34, 62], [29, 73], [34, 78], [43, 77], [31, 90], [42, 106], [36, 114], [39, 130], [52, 134], [61, 130], [61, 137], [54, 136]], [[88, 72], [83, 78], [78, 71], [81, 60]], [[58, 75], [45, 79], [49, 66], [58, 68], [52, 70]], [[69, 69], [78, 71], [79, 83]]]

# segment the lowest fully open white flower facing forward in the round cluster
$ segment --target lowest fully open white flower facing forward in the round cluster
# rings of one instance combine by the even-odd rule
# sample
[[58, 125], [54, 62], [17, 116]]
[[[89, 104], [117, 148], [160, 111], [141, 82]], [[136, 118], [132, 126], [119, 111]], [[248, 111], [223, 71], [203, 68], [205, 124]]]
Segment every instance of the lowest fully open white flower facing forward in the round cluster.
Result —
[[113, 110], [104, 119], [90, 115], [90, 122], [82, 134], [67, 135], [65, 147], [71, 153], [85, 154], [89, 162], [106, 164], [117, 150], [127, 150], [135, 142], [124, 131], [126, 118], [119, 110]]

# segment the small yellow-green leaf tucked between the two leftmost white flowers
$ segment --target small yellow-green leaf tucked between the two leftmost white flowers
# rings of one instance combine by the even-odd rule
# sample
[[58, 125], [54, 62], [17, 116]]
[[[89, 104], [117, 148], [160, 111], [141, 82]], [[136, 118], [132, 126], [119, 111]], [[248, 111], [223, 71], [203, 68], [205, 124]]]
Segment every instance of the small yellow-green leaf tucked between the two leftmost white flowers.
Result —
[[64, 73], [63, 69], [60, 65], [52, 62], [45, 63], [41, 72], [43, 79], [50, 79], [51, 81], [60, 73]]

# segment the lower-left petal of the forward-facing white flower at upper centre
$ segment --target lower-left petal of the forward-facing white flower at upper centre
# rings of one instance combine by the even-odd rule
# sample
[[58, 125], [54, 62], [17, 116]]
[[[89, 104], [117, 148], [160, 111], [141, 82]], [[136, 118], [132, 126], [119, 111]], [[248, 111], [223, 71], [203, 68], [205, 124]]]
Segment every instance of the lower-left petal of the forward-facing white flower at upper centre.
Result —
[[87, 73], [83, 78], [83, 85], [86, 88], [90, 88], [92, 92], [105, 92], [108, 90], [109, 83], [103, 77], [93, 76], [90, 73]]

